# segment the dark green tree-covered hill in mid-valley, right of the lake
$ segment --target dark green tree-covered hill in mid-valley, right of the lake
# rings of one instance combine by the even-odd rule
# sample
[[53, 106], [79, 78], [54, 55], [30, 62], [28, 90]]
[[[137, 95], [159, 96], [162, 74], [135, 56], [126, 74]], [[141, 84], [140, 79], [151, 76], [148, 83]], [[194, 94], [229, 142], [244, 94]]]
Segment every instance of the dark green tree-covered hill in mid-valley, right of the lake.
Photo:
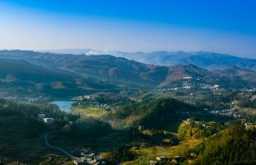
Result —
[[[141, 125], [145, 129], [161, 130], [165, 125], [179, 121], [178, 114], [198, 111], [200, 112], [201, 109], [182, 101], [172, 98], [156, 98], [123, 106], [115, 114], [109, 114], [107, 120], [111, 120], [112, 126], [116, 129], [131, 129]], [[123, 124], [120, 125], [120, 122]]]

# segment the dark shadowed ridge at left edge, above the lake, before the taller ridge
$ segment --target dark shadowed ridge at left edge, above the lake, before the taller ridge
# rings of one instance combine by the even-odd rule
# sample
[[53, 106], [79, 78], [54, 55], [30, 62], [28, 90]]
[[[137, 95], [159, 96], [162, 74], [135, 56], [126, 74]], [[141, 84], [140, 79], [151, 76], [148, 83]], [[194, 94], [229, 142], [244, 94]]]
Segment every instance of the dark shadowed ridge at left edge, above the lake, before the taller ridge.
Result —
[[0, 59], [0, 94], [65, 98], [107, 90], [115, 92], [116, 87], [67, 70], [31, 64], [24, 59]]

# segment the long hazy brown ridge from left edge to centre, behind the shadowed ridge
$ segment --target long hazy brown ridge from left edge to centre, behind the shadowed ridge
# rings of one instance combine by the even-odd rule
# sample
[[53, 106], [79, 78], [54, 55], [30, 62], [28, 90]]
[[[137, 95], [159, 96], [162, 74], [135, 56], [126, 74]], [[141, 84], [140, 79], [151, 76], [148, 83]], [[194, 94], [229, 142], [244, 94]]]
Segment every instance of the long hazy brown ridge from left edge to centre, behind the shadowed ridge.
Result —
[[2, 50], [0, 58], [23, 59], [31, 64], [58, 68], [79, 74], [83, 78], [95, 78], [111, 82], [157, 86], [164, 81], [167, 67], [147, 65], [111, 55], [50, 54], [34, 51]]

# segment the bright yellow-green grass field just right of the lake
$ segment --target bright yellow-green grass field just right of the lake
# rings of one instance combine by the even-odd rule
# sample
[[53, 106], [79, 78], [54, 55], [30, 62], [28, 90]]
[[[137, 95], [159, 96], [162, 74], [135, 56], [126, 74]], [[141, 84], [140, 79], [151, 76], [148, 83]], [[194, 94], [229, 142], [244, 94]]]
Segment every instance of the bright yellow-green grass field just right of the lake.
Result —
[[106, 110], [100, 110], [97, 107], [82, 107], [82, 106], [75, 106], [72, 107], [74, 113], [79, 113], [81, 115], [87, 115], [90, 117], [100, 118], [103, 115], [107, 114]]

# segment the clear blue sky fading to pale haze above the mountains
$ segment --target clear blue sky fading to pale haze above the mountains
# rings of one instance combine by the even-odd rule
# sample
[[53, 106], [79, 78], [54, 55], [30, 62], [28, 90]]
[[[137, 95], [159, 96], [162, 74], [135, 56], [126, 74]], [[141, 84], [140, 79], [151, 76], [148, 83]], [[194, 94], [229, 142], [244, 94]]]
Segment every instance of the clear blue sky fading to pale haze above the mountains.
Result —
[[0, 49], [212, 51], [256, 59], [254, 0], [1, 0]]

